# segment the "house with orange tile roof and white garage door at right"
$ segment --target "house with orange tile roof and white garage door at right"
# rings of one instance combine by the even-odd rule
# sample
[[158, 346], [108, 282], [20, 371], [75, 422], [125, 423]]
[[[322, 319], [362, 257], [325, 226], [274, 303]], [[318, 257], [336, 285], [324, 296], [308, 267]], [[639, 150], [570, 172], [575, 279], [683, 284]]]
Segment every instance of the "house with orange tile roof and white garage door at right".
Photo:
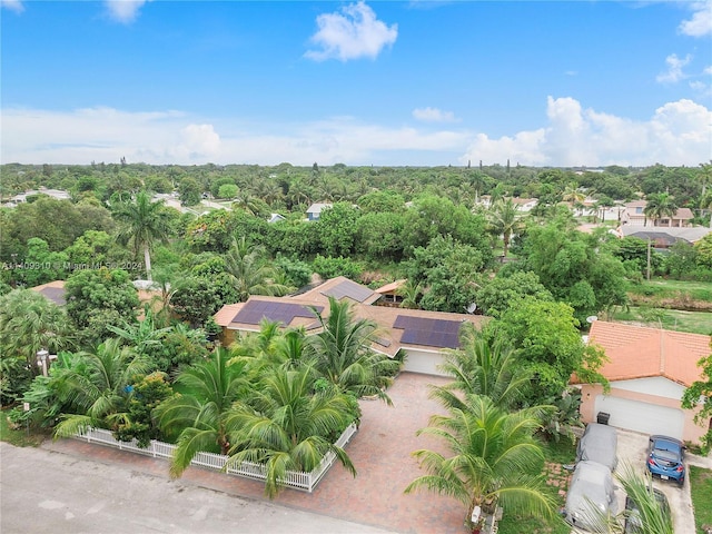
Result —
[[[682, 409], [686, 387], [701, 379], [700, 358], [709, 356], [710, 336], [646, 328], [621, 323], [594, 322], [589, 343], [609, 357], [601, 373], [610, 384], [581, 384], [581, 415], [585, 423], [610, 414], [609, 424], [643, 434], [665, 434], [699, 442], [712, 419], [694, 423], [698, 411]], [[576, 378], [572, 379], [576, 383]]]

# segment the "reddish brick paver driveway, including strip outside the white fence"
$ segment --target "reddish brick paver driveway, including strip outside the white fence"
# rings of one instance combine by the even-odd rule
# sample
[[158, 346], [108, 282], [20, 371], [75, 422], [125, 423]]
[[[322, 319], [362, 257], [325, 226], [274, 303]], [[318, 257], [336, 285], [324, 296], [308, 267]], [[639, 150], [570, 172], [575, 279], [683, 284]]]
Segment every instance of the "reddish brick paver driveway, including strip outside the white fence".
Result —
[[[427, 426], [432, 414], [443, 413], [443, 408], [428, 398], [428, 384], [446, 382], [403, 373], [388, 390], [393, 406], [363, 400], [360, 429], [346, 446], [357, 476], [354, 478], [340, 464], [335, 464], [314, 493], [285, 490], [273, 503], [399, 533], [467, 533], [465, 508], [459, 502], [429, 492], [403, 493], [411, 481], [424, 474], [411, 453], [441, 446], [426, 436], [416, 437], [415, 433]], [[161, 459], [75, 439], [48, 443], [44, 447], [168, 477], [168, 463]], [[201, 487], [266, 500], [264, 485], [256, 481], [197, 467], [187, 469], [182, 478]]]

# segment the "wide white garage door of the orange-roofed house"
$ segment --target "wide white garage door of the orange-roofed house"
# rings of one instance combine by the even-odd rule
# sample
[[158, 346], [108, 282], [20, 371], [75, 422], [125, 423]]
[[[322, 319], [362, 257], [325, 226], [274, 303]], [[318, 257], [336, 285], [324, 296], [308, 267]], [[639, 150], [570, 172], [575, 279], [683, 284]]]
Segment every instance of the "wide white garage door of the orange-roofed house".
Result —
[[682, 409], [606, 395], [599, 395], [595, 406], [596, 414], [599, 412], [611, 414], [609, 419], [611, 426], [643, 434], [664, 434], [682, 439], [684, 425]]

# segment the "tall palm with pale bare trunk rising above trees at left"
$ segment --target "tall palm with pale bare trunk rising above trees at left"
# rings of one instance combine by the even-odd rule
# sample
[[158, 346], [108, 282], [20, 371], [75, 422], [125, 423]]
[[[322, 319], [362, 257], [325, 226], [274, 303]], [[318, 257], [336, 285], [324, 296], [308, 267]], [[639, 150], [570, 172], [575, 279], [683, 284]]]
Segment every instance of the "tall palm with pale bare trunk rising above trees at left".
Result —
[[117, 239], [125, 244], [131, 241], [136, 255], [144, 253], [146, 278], [150, 280], [150, 250], [156, 241], [167, 241], [170, 234], [164, 201], [154, 202], [148, 192], [139, 191], [132, 201], [112, 206], [112, 216], [120, 225]]

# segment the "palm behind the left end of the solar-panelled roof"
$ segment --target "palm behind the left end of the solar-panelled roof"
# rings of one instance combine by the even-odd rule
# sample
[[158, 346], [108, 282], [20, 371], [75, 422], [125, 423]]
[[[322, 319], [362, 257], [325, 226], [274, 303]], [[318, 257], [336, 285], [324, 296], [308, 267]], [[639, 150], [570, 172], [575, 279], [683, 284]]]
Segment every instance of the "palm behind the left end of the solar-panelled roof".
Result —
[[245, 237], [233, 239], [233, 246], [225, 256], [229, 275], [240, 303], [250, 295], [283, 296], [289, 288], [275, 281], [276, 273], [264, 259], [264, 248], [249, 250]]

